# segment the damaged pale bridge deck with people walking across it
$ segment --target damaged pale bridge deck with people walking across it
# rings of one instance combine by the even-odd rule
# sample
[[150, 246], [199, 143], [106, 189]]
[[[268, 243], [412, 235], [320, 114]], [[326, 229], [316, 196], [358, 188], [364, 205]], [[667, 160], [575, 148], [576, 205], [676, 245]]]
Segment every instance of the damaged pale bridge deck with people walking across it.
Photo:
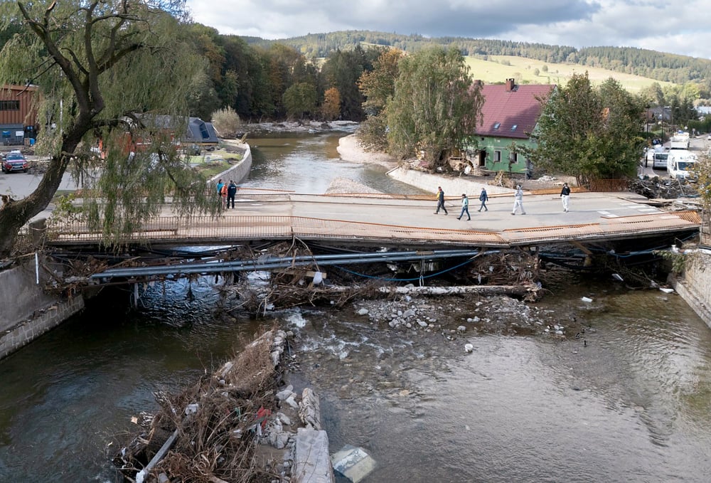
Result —
[[[434, 198], [434, 196], [433, 196]], [[491, 197], [489, 211], [458, 220], [459, 199], [447, 201], [449, 215], [433, 214], [434, 201], [406, 196], [303, 195], [240, 192], [236, 209], [217, 218], [181, 221], [166, 207], [161, 217], [127, 237], [153, 244], [235, 243], [252, 240], [319, 240], [385, 245], [510, 247], [570, 241], [640, 238], [700, 227], [695, 211], [668, 213], [633, 193], [574, 193], [571, 211], [562, 212], [557, 194], [524, 196], [526, 215], [511, 216], [512, 196]], [[465, 215], [466, 216], [466, 215]], [[100, 242], [81, 223], [49, 225], [53, 245]]]

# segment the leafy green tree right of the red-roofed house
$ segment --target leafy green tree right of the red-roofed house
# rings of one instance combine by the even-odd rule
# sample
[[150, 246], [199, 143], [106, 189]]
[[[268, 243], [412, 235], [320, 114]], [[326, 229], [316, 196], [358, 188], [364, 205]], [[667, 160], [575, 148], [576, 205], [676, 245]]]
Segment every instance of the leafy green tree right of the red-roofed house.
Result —
[[582, 185], [636, 173], [644, 142], [641, 97], [612, 78], [596, 90], [585, 73], [573, 75], [540, 102], [543, 110], [532, 135], [538, 146], [522, 148], [538, 169], [576, 176]]

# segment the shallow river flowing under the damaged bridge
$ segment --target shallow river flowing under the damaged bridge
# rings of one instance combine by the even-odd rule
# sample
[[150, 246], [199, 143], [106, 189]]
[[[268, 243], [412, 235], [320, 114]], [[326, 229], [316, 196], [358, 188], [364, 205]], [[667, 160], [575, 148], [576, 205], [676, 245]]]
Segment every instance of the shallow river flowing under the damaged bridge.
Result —
[[[377, 166], [341, 169], [338, 135], [254, 140], [247, 183], [323, 192], [331, 176], [384, 177]], [[387, 179], [375, 185], [397, 189]], [[119, 481], [113, 441], [137, 429], [132, 416], [156, 408], [153, 392], [212, 371], [274, 321], [296, 333], [292, 379], [321, 396], [331, 451], [357, 445], [377, 462], [364, 483], [711, 474], [711, 329], [675, 294], [571, 275], [535, 307], [586, 328], [585, 343], [474, 332], [449, 341], [370, 324], [352, 309], [254, 319], [223, 306], [211, 282], [155, 285], [137, 310], [128, 291], [107, 292], [0, 361], [0, 482]], [[473, 307], [462, 300], [458, 318]]]

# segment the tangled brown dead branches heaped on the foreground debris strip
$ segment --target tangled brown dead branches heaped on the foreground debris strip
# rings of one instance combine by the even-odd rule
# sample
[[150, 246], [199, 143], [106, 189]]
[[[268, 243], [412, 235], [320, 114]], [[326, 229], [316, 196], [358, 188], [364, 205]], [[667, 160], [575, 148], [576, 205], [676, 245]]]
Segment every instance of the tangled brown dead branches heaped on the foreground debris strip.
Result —
[[274, 336], [268, 332], [213, 376], [203, 376], [182, 393], [156, 393], [161, 405], [147, 435], [141, 435], [114, 459], [133, 479], [154, 456], [156, 441], [176, 430], [173, 448], [150, 469], [172, 482], [247, 483], [269, 481], [257, 464], [258, 436], [274, 409], [278, 373], [272, 359]]

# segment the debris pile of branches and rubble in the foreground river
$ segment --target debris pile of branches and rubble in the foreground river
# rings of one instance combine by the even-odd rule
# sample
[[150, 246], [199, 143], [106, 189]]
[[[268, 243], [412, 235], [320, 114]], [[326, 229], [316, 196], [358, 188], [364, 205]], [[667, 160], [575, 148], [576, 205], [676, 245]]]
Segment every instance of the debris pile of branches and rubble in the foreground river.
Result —
[[[182, 393], [156, 393], [159, 413], [134, 418], [143, 430], [114, 457], [124, 477], [135, 482], [286, 481], [294, 464], [292, 426], [301, 413], [309, 422], [318, 418], [309, 409], [316, 396], [308, 388], [303, 405], [292, 386], [277, 392], [289, 336], [268, 331]], [[283, 451], [272, 453], [269, 447]]]

